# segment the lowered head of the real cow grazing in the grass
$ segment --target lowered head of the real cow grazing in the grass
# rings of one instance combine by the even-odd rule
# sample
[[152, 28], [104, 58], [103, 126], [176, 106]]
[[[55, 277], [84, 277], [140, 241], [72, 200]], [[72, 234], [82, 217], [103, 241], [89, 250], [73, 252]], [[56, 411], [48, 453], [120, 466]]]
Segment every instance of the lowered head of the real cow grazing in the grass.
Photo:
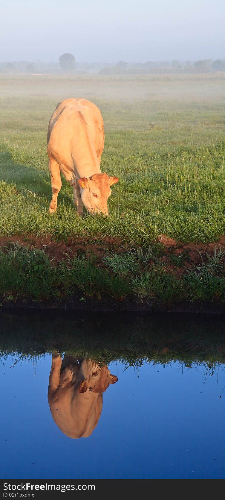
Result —
[[118, 177], [110, 177], [107, 173], [94, 173], [88, 178], [81, 177], [78, 180], [81, 199], [89, 213], [108, 215], [107, 199], [111, 194], [110, 186], [118, 180]]

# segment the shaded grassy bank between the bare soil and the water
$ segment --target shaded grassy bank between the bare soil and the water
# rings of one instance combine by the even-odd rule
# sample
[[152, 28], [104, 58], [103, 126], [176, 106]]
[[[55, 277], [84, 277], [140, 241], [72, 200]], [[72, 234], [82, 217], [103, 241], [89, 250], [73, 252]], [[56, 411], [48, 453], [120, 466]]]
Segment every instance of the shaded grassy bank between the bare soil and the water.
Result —
[[[111, 300], [168, 309], [180, 301], [225, 302], [225, 251], [199, 254], [189, 262], [189, 252], [169, 253], [155, 243], [123, 253], [106, 250], [103, 255], [77, 252], [55, 262], [44, 250], [12, 243], [0, 249], [0, 297], [7, 301], [46, 301], [54, 307], [76, 296], [95, 303]], [[170, 262], [171, 265], [168, 265]], [[173, 265], [172, 265], [173, 264]], [[187, 265], [187, 267], [186, 267]], [[177, 269], [177, 271], [176, 271]], [[131, 306], [132, 308], [132, 306]]]

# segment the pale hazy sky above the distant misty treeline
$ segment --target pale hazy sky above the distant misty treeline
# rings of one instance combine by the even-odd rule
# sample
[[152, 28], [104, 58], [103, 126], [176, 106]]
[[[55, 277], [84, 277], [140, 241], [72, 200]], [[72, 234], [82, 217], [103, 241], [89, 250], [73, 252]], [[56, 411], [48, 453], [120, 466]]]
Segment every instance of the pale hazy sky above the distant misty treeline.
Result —
[[225, 58], [225, 0], [1, 0], [0, 61]]

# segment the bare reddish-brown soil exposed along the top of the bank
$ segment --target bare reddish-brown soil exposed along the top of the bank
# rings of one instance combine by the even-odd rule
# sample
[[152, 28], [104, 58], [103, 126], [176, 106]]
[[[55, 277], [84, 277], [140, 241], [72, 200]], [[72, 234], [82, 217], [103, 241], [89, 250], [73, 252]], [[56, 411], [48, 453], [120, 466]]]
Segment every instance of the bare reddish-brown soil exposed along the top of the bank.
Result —
[[[157, 238], [158, 243], [161, 243], [160, 258], [167, 265], [169, 271], [175, 272], [180, 277], [187, 268], [193, 265], [198, 265], [202, 260], [206, 260], [206, 253], [213, 255], [215, 248], [221, 247], [225, 250], [225, 236], [221, 236], [218, 241], [213, 243], [182, 243], [173, 238], [169, 238], [165, 234], [161, 234]], [[50, 259], [56, 263], [63, 260], [66, 254], [73, 255], [90, 255], [95, 254], [97, 261], [100, 262], [105, 255], [106, 250], [115, 251], [116, 253], [124, 253], [132, 248], [128, 243], [124, 243], [117, 237], [93, 237], [93, 238], [72, 238], [67, 241], [58, 241], [52, 239], [51, 236], [29, 235], [13, 235], [1, 236], [0, 247], [10, 246], [11, 243], [19, 243], [24, 246], [33, 247], [45, 250]], [[177, 258], [178, 257], [178, 258]]]

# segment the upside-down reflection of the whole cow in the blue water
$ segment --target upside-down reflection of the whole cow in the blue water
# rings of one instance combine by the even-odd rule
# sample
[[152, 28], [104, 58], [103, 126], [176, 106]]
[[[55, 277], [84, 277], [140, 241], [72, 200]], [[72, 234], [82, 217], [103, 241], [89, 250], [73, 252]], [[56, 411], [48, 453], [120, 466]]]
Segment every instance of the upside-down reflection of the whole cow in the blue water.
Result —
[[102, 411], [102, 393], [118, 378], [91, 359], [52, 354], [48, 403], [58, 427], [69, 437], [88, 437]]

